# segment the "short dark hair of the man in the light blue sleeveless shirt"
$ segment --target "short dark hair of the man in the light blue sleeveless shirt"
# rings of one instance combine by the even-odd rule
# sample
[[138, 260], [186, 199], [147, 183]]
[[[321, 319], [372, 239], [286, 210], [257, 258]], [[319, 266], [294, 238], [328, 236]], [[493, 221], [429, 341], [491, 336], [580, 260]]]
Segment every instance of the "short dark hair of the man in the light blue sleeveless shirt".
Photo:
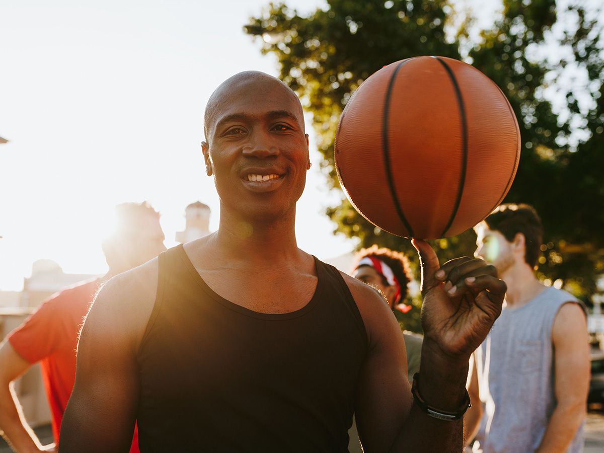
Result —
[[503, 234], [508, 242], [512, 242], [516, 234], [522, 233], [525, 239], [524, 260], [532, 268], [535, 267], [543, 242], [543, 225], [535, 208], [527, 204], [504, 204], [484, 219], [484, 223], [489, 230]]

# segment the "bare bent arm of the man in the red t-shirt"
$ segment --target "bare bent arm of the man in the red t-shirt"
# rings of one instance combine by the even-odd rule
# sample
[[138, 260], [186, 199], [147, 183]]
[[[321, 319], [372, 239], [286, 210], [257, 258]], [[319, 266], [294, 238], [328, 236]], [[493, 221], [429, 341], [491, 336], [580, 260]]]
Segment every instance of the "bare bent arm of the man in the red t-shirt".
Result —
[[13, 390], [13, 381], [31, 367], [9, 341], [0, 347], [0, 431], [14, 451], [54, 451], [54, 444], [42, 446], [33, 429], [27, 424], [21, 405]]

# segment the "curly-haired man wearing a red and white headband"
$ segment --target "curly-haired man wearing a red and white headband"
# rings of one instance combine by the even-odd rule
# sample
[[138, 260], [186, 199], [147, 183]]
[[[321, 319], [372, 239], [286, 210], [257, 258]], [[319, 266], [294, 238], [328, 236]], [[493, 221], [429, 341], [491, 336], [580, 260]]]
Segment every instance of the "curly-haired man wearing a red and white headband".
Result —
[[[381, 292], [394, 312], [394, 317], [400, 326], [404, 327], [403, 313], [407, 313], [411, 306], [403, 301], [407, 297], [408, 285], [412, 278], [409, 261], [405, 255], [389, 248], [377, 248], [377, 245], [362, 249], [355, 257], [353, 277]], [[407, 355], [407, 376], [409, 382], [412, 382], [414, 374], [419, 371], [422, 336], [403, 330], [403, 337]]]

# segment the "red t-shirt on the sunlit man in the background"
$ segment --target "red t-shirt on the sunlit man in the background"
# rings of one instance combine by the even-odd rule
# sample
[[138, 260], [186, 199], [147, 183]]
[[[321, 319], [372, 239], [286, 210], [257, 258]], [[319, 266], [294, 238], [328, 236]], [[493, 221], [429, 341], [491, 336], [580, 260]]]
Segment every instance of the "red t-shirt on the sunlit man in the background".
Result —
[[[31, 364], [40, 362], [57, 445], [65, 407], [76, 380], [78, 336], [99, 283], [99, 280], [86, 281], [52, 295], [8, 334], [8, 341], [22, 358]], [[132, 453], [138, 453], [137, 434], [135, 431]]]

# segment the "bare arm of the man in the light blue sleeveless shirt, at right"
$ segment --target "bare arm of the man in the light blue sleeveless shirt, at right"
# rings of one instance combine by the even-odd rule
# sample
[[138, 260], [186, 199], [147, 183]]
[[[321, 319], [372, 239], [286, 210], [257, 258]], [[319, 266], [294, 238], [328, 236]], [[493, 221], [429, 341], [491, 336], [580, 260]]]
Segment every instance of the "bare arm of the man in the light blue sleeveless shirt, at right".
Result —
[[576, 303], [564, 304], [551, 330], [554, 348], [556, 408], [538, 452], [565, 452], [586, 416], [590, 350], [585, 313]]

